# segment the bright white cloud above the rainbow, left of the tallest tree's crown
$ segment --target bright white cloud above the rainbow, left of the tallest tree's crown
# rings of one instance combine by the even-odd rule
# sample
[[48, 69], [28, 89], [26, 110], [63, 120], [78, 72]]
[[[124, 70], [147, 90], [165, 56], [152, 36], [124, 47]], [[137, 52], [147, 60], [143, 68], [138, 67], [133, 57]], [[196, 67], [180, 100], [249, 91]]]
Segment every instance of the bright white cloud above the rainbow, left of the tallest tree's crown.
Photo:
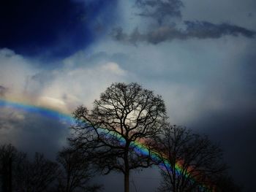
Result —
[[91, 106], [112, 82], [127, 78], [116, 62], [83, 51], [60, 62], [61, 69], [40, 69], [12, 50], [0, 50], [0, 82], [8, 88], [6, 97], [72, 112], [80, 104]]

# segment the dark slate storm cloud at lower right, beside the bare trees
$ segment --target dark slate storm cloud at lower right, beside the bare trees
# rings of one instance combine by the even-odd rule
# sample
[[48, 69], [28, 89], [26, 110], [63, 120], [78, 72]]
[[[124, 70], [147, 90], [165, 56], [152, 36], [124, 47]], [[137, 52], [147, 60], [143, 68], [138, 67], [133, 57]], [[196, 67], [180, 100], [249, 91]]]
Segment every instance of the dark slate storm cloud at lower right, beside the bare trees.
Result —
[[208, 134], [214, 142], [219, 142], [224, 150], [229, 172], [238, 185], [255, 191], [256, 161], [256, 107], [229, 110], [226, 112], [205, 112], [192, 126]]

